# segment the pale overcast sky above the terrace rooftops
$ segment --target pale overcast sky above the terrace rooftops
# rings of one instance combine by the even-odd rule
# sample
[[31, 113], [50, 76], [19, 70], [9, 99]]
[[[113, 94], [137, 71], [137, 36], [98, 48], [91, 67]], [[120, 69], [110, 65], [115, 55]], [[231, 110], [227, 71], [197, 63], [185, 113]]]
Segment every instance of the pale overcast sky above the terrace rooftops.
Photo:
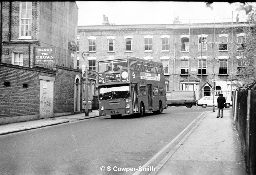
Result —
[[239, 21], [247, 15], [236, 11], [240, 3], [213, 2], [206, 8], [205, 2], [182, 1], [76, 1], [78, 26], [102, 25], [103, 14], [109, 23], [129, 24], [172, 24], [179, 16], [181, 23], [233, 22], [239, 14]]

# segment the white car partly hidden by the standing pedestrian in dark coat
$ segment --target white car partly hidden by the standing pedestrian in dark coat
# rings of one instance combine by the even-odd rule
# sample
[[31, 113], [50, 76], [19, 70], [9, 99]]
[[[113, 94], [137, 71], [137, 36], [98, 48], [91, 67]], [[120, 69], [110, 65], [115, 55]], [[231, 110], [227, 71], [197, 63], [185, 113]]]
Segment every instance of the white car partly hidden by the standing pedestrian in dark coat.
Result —
[[[214, 96], [214, 106], [217, 106], [217, 98], [218, 96]], [[197, 101], [197, 106], [207, 107], [213, 105], [213, 96], [205, 96]], [[232, 106], [232, 101], [226, 99], [225, 107]]]

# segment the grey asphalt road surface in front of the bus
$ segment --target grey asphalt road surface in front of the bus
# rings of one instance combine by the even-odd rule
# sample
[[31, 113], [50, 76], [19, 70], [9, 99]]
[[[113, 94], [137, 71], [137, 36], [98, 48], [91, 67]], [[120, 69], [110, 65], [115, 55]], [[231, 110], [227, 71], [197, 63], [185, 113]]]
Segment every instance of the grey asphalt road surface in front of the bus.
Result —
[[[127, 174], [113, 168], [148, 163], [209, 110], [168, 107], [160, 115], [97, 117], [0, 136], [0, 174]], [[178, 141], [149, 166], [156, 166]], [[102, 166], [105, 171], [100, 171]]]

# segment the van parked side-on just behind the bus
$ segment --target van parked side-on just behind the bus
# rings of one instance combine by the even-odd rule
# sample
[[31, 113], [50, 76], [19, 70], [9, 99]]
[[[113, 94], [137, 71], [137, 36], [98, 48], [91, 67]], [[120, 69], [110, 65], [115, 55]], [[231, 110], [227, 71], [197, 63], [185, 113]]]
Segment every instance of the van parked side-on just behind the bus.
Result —
[[168, 106], [196, 106], [195, 91], [166, 91], [166, 99]]

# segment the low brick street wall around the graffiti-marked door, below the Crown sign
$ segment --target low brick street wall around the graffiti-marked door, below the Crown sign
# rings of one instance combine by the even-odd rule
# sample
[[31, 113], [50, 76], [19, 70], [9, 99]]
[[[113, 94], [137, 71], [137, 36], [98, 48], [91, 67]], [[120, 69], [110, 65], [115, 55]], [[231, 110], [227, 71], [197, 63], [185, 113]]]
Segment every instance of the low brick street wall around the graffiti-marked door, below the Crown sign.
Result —
[[[0, 63], [0, 70], [0, 118], [39, 115], [39, 76], [55, 77], [53, 113], [74, 113], [74, 82], [76, 75], [79, 75], [81, 80], [81, 71], [60, 66], [56, 71], [52, 71], [47, 68], [26, 68], [5, 63]], [[9, 82], [10, 86], [5, 86], [4, 82]], [[27, 84], [27, 87], [23, 87], [23, 84]], [[80, 90], [82, 111], [82, 87]]]

